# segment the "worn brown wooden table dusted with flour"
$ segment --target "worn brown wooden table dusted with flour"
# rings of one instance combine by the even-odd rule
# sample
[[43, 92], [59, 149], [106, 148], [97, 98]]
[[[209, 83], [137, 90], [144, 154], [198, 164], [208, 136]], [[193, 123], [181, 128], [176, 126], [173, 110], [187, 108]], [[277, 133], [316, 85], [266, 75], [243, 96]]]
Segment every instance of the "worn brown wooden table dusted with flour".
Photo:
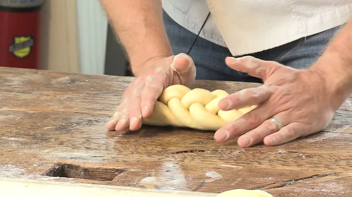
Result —
[[[240, 148], [236, 140], [218, 144], [214, 132], [191, 129], [107, 131], [131, 81], [0, 67], [0, 181], [156, 188], [213, 197], [237, 188], [262, 189], [274, 197], [352, 196], [351, 98], [324, 132], [275, 147]], [[197, 81], [194, 87], [233, 93], [254, 86]]]

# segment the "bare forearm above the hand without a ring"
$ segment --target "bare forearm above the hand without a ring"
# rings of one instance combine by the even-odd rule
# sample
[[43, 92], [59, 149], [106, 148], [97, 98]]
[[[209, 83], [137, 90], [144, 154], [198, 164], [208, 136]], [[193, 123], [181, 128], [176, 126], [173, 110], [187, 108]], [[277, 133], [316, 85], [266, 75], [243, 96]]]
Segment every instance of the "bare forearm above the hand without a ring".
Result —
[[136, 75], [141, 65], [173, 55], [162, 20], [161, 0], [100, 0]]

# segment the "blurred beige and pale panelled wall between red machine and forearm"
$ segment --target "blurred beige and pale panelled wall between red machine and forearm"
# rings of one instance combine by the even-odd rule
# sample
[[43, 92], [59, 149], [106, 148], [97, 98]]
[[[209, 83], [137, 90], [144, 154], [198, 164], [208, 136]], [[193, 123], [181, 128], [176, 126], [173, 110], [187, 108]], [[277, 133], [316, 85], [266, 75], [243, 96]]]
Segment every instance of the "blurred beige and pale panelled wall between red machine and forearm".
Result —
[[45, 0], [42, 14], [42, 69], [130, 75], [99, 0]]

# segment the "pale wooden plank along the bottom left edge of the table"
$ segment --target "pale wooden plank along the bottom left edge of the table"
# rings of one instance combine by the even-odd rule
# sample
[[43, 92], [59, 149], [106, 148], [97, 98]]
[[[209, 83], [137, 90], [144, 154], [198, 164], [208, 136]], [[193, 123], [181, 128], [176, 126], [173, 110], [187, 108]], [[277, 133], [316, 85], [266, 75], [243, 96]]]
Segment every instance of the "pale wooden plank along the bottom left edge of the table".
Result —
[[217, 194], [165, 191], [83, 183], [0, 178], [3, 197], [216, 197]]

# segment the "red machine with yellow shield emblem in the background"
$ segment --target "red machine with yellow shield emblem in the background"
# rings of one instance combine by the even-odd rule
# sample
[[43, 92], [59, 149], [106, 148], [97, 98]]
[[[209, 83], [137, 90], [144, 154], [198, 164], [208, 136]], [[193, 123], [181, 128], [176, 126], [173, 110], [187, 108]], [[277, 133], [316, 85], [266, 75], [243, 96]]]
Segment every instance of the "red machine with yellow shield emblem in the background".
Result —
[[0, 66], [40, 69], [44, 0], [0, 0]]

